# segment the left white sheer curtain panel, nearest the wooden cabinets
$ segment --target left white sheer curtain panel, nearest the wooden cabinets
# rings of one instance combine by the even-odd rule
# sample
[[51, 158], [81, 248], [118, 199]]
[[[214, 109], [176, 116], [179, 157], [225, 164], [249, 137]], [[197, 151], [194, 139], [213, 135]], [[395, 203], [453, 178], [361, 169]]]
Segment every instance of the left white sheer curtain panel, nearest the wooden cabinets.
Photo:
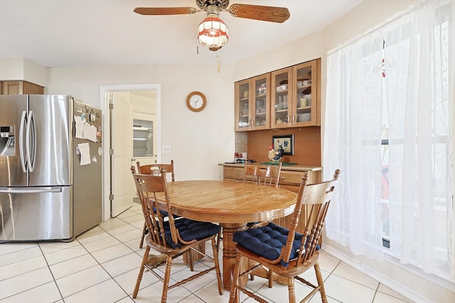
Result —
[[376, 32], [328, 57], [323, 153], [325, 180], [328, 172], [341, 169], [338, 197], [326, 219], [328, 238], [349, 245], [355, 255], [378, 259], [382, 78], [371, 74], [381, 48]]

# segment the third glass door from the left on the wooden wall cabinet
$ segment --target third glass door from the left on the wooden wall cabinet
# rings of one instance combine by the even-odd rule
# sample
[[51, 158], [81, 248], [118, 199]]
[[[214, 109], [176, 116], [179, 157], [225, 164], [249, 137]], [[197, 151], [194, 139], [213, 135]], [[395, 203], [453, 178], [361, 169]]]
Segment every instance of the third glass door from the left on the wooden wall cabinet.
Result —
[[291, 111], [292, 111], [292, 90], [289, 85], [292, 83], [292, 68], [284, 68], [272, 72], [272, 106], [271, 111], [271, 127], [286, 128], [291, 126]]

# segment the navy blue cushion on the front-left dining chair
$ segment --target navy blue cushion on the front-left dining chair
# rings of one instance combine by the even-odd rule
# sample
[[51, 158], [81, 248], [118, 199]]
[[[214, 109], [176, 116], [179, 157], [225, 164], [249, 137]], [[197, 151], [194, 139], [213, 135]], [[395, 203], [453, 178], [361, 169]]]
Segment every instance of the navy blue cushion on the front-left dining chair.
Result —
[[[209, 222], [200, 222], [181, 218], [176, 220], [175, 224], [183, 241], [200, 240], [220, 232], [220, 226]], [[179, 248], [182, 246], [180, 241], [177, 245], [173, 243], [171, 228], [169, 227], [168, 221], [164, 222], [164, 238], [166, 238], [166, 243], [168, 243], [168, 245], [172, 248]]]

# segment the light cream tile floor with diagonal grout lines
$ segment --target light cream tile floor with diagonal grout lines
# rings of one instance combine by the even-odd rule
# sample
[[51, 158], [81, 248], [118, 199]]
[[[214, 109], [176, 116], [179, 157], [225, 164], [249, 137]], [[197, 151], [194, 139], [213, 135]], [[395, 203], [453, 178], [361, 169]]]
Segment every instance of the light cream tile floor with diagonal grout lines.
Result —
[[[132, 299], [144, 248], [139, 249], [143, 225], [139, 205], [117, 218], [102, 222], [70, 243], [0, 244], [0, 302], [159, 302], [162, 284], [149, 272], [144, 273], [138, 297]], [[221, 243], [221, 248], [223, 248]], [[212, 251], [207, 244], [206, 252]], [[220, 252], [221, 254], [222, 252]], [[378, 281], [351, 268], [321, 250], [319, 264], [328, 302], [411, 302]], [[171, 278], [188, 273], [183, 260], [171, 268]], [[207, 268], [205, 261], [195, 270]], [[314, 271], [303, 275], [316, 283]], [[287, 287], [256, 277], [248, 287], [269, 302], [287, 302]], [[304, 297], [307, 288], [296, 282], [296, 296]], [[242, 302], [255, 302], [242, 294]], [[168, 302], [228, 302], [229, 292], [218, 294], [215, 272], [176, 287], [168, 292]], [[316, 294], [310, 302], [321, 302]]]

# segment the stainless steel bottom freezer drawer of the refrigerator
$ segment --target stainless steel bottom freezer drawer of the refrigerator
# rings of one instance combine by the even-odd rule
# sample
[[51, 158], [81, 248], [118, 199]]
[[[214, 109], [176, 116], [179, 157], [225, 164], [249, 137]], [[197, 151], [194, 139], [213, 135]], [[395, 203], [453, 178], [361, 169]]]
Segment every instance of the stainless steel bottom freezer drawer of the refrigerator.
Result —
[[0, 187], [0, 242], [73, 238], [72, 187]]

